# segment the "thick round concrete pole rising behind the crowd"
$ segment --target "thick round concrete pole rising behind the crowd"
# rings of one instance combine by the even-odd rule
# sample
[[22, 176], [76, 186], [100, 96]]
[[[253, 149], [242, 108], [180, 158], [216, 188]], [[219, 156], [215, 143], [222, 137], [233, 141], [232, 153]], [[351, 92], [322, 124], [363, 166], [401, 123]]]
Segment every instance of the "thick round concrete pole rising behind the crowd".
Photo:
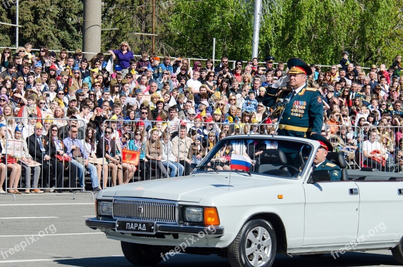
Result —
[[91, 59], [101, 51], [102, 0], [84, 0], [83, 51]]

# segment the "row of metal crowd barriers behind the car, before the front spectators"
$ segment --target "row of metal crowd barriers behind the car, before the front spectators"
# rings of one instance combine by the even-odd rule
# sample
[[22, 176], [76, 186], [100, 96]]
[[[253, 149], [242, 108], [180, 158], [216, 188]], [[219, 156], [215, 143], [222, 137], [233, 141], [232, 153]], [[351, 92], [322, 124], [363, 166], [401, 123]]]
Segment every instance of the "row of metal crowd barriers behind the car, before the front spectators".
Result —
[[[82, 190], [88, 180], [94, 188], [106, 188], [133, 181], [188, 175], [191, 163], [199, 163], [224, 136], [272, 134], [275, 130], [273, 124], [255, 127], [256, 124], [181, 122], [179, 119], [167, 122], [121, 119], [104, 121], [97, 132], [81, 119], [51, 119], [53, 124], [44, 121], [47, 137], [42, 139], [41, 146], [35, 138], [35, 134], [43, 136], [43, 130], [36, 133], [38, 120], [41, 119], [8, 118], [6, 133], [0, 131], [0, 143], [5, 147], [2, 151], [5, 161], [0, 163], [0, 185], [4, 181], [6, 191]], [[16, 121], [25, 124], [21, 130], [23, 137], [16, 138], [10, 131], [15, 129]], [[72, 124], [80, 124], [80, 127], [69, 128]], [[403, 172], [402, 127], [358, 124], [323, 126], [322, 134], [333, 144], [333, 151], [345, 156], [348, 169], [374, 167], [383, 172]], [[57, 136], [52, 133], [56, 128]], [[371, 136], [372, 130], [376, 136]], [[72, 139], [79, 140], [80, 144], [69, 143]], [[62, 140], [64, 143], [60, 142]], [[83, 149], [82, 162], [78, 161], [79, 156], [72, 154], [75, 144]], [[136, 164], [126, 161], [127, 158], [122, 158], [123, 149], [138, 151], [139, 161]], [[373, 150], [379, 150], [380, 155], [371, 156], [375, 153]], [[73, 161], [64, 162], [63, 166], [54, 158], [55, 153], [68, 153]], [[379, 161], [371, 159], [375, 156], [380, 157]], [[6, 170], [11, 171], [10, 175]]]

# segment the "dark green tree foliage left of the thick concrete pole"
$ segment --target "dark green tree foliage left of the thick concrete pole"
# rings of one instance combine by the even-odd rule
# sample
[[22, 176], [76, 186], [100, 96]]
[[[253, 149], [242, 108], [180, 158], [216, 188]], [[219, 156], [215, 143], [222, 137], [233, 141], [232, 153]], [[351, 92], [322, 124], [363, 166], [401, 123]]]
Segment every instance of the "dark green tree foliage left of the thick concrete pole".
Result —
[[[16, 6], [5, 9], [3, 13], [0, 11], [0, 15], [2, 21], [14, 24]], [[75, 50], [82, 46], [82, 16], [82, 0], [22, 0], [19, 5], [19, 43]], [[5, 31], [0, 30], [0, 37], [3, 34], [9, 36], [4, 45], [15, 46], [15, 28], [10, 26]]]

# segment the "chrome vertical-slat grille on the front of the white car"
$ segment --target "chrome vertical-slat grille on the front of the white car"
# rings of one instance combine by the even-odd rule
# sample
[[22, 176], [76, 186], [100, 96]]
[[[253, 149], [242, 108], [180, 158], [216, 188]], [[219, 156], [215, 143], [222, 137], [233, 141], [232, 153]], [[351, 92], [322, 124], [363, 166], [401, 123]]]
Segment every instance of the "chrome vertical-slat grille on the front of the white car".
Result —
[[114, 198], [113, 218], [177, 223], [177, 202], [142, 198]]

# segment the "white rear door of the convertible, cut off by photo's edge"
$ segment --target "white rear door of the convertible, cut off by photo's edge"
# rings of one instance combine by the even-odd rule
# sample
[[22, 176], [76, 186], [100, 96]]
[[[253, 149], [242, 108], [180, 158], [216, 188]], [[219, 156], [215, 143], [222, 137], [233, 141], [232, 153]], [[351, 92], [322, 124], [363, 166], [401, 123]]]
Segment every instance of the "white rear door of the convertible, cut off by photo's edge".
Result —
[[400, 239], [403, 233], [403, 182], [356, 181], [360, 190], [357, 242]]

